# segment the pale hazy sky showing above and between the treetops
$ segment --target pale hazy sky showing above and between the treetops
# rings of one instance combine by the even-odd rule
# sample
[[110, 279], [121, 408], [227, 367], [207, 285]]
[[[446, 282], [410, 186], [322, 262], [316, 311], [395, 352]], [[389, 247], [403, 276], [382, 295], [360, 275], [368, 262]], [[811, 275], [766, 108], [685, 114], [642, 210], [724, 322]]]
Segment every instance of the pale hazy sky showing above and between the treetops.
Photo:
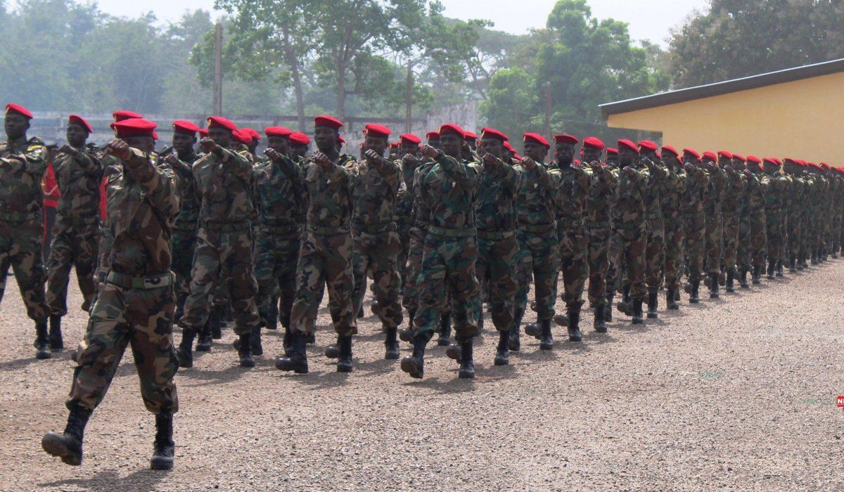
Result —
[[[457, 19], [490, 19], [496, 30], [523, 34], [531, 28], [543, 27], [554, 0], [441, 0], [446, 15]], [[99, 0], [100, 8], [114, 15], [135, 17], [152, 10], [161, 20], [178, 19], [187, 9], [214, 7], [214, 0]], [[680, 23], [695, 8], [702, 10], [709, 0], [589, 0], [592, 15], [598, 19], [612, 17], [630, 24], [633, 39], [647, 39], [665, 45], [668, 30]]]

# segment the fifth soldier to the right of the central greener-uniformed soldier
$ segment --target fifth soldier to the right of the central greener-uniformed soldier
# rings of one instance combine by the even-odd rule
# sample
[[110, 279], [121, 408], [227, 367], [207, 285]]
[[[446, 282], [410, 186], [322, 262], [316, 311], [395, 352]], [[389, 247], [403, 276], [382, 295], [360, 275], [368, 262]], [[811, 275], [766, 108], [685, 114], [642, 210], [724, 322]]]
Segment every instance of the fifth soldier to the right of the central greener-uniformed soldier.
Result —
[[621, 266], [624, 261], [629, 284], [625, 286], [625, 290], [629, 294], [625, 295], [622, 303], [619, 303], [619, 311], [627, 311], [632, 317], [633, 324], [645, 322], [642, 317], [641, 303], [647, 294], [645, 287], [647, 238], [645, 190], [648, 174], [647, 171], [636, 170], [634, 167], [634, 159], [638, 154], [639, 148], [636, 143], [627, 139], [619, 140], [619, 184], [613, 208], [614, 234], [609, 245], [609, 261], [614, 265], [616, 278], [620, 278], [623, 273]]

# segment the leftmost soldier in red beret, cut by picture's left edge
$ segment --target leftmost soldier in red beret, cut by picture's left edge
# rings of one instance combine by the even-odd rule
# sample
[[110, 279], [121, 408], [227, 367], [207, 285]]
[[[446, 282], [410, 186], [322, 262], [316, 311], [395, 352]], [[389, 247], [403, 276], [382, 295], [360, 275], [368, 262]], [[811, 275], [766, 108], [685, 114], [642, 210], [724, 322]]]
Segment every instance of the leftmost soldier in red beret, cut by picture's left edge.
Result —
[[41, 138], [26, 138], [32, 113], [22, 105], [6, 105], [6, 143], [0, 145], [0, 294], [12, 266], [24, 298], [26, 314], [35, 322], [35, 357], [49, 359], [44, 297], [44, 246], [41, 222], [41, 179], [47, 149]]

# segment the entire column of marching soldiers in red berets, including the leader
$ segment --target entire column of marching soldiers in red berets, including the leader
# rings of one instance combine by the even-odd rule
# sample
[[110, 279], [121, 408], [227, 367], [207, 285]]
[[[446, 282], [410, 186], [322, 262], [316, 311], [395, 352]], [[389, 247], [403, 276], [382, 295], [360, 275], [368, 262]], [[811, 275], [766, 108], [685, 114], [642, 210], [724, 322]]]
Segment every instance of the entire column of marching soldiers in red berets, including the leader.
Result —
[[[155, 414], [151, 467], [170, 468], [173, 377], [193, 365], [194, 350], [211, 349], [227, 309], [239, 365], [255, 365], [262, 329], [280, 322], [276, 367], [307, 373], [327, 287], [337, 339], [326, 354], [349, 372], [371, 278], [385, 359], [400, 358], [399, 339], [410, 343], [400, 367], [421, 378], [438, 334], [459, 377], [473, 378], [484, 304], [499, 333], [494, 363], [507, 365], [523, 349], [528, 305], [536, 317], [524, 333], [550, 350], [552, 321], [582, 341], [584, 290], [594, 330], [606, 333], [616, 293], [615, 307], [639, 324], [646, 303], [647, 317], [658, 316], [662, 289], [668, 309], [679, 309], [684, 276], [697, 303], [701, 281], [718, 298], [720, 286], [747, 289], [765, 274], [825, 262], [844, 242], [844, 174], [823, 163], [680, 154], [626, 139], [608, 149], [565, 133], [549, 143], [533, 132], [522, 136], [522, 157], [503, 132], [484, 128], [478, 138], [455, 124], [424, 144], [405, 133], [392, 149], [389, 128], [367, 125], [354, 158], [343, 153], [343, 122], [331, 116], [315, 119], [312, 153], [305, 134], [269, 127], [257, 155], [261, 135], [221, 116], [206, 128], [173, 122], [172, 142], [156, 152], [153, 122], [131, 111], [114, 116], [116, 138], [100, 149], [86, 144], [88, 122], [68, 117], [68, 143], [52, 161], [62, 195], [47, 268], [41, 179], [49, 155], [28, 138], [24, 107], [6, 106], [0, 146], [0, 286], [11, 266], [35, 322], [36, 357], [63, 348], [71, 267], [89, 312], [68, 425], [42, 441], [68, 464], [82, 461], [85, 424], [131, 344]], [[565, 314], [555, 312], [558, 295]]]

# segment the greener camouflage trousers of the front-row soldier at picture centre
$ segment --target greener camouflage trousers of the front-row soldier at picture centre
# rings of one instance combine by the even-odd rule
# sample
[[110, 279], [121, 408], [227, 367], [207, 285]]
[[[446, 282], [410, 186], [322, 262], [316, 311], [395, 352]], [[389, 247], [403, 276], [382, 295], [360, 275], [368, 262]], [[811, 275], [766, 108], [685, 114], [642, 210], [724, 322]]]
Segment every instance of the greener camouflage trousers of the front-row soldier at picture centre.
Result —
[[446, 237], [429, 233], [425, 237], [415, 333], [435, 330], [446, 310], [446, 300], [450, 300], [457, 341], [468, 341], [479, 334], [477, 258], [478, 243], [473, 236]]

